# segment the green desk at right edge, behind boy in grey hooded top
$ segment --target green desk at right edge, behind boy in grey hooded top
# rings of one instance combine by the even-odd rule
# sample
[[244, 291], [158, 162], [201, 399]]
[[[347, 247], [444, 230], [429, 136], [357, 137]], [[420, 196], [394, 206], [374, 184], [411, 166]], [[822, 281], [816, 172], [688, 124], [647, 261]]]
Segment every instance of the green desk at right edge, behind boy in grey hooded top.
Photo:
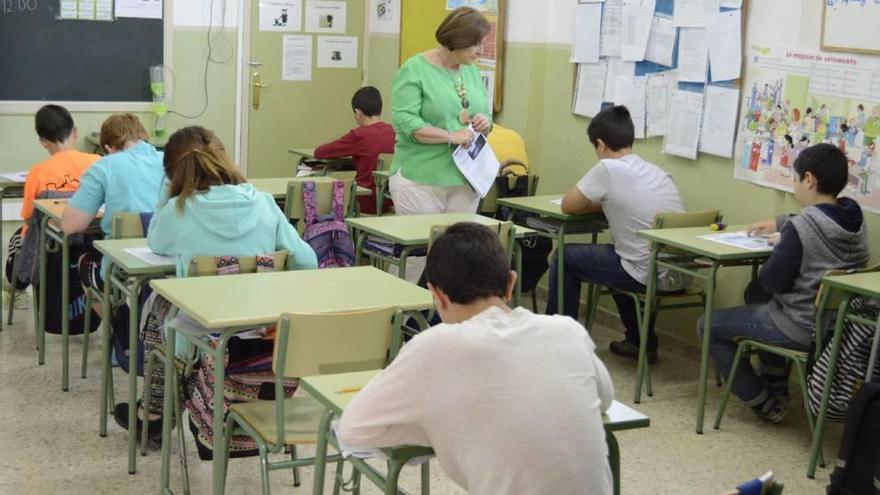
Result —
[[[874, 320], [866, 318], [864, 315], [856, 314], [850, 308], [850, 302], [853, 297], [861, 296], [880, 301], [880, 272], [854, 273], [850, 275], [828, 276], [822, 279], [822, 283], [832, 289], [841, 292], [841, 299], [838, 305], [837, 320], [834, 325], [834, 333], [831, 336], [831, 360], [828, 363], [829, 370], [837, 368], [837, 357], [839, 356], [840, 344], [843, 337], [844, 322], [846, 320], [869, 325], [874, 327], [874, 341], [871, 346], [871, 354], [868, 358], [868, 368], [865, 371], [865, 381], [868, 381], [877, 365], [877, 350], [880, 346], [880, 319]], [[822, 448], [822, 433], [825, 428], [825, 416], [828, 412], [828, 398], [831, 395], [831, 379], [834, 373], [830, 372], [826, 375], [826, 380], [822, 388], [822, 407], [816, 417], [816, 427], [813, 430], [813, 444], [810, 448], [810, 465], [807, 469], [807, 476], [813, 478], [816, 474], [816, 464], [819, 458], [819, 451]]]

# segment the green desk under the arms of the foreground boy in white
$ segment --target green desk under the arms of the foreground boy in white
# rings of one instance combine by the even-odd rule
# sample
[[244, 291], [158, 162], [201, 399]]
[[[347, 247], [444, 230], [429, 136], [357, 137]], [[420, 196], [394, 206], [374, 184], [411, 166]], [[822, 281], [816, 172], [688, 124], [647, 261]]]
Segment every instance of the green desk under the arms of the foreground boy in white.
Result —
[[[346, 406], [357, 395], [356, 392], [350, 392], [350, 390], [363, 388], [380, 372], [381, 370], [372, 370], [300, 378], [300, 386], [326, 408], [324, 415], [321, 417], [321, 423], [318, 426], [318, 443], [315, 448], [313, 493], [316, 495], [324, 493], [327, 444], [332, 443], [338, 449], [338, 443], [330, 430], [330, 422], [334, 417], [342, 416]], [[650, 426], [651, 421], [648, 416], [620, 402], [614, 401], [611, 407], [608, 408], [608, 411], [602, 415], [602, 422], [605, 426], [605, 441], [608, 444], [608, 463], [614, 476], [614, 493], [619, 494], [620, 446], [617, 443], [614, 432], [646, 428]], [[400, 446], [381, 450], [389, 459], [388, 474], [386, 476], [376, 471], [363, 459], [350, 457], [348, 461], [367, 479], [381, 487], [386, 494], [397, 493], [397, 479], [407, 461], [415, 457], [434, 455], [434, 451], [430, 447]], [[428, 463], [425, 462], [421, 466], [422, 493], [428, 493], [428, 483], [430, 482]]]

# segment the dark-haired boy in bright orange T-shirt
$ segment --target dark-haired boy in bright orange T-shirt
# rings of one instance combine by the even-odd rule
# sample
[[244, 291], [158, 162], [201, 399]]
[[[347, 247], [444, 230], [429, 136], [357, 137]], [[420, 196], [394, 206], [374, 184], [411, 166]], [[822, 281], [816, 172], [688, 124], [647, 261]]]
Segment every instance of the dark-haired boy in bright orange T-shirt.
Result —
[[[86, 169], [101, 157], [83, 153], [76, 149], [79, 132], [73, 117], [66, 108], [59, 105], [46, 105], [34, 116], [34, 127], [40, 138], [40, 146], [49, 152], [49, 159], [37, 163], [28, 171], [24, 182], [21, 202], [21, 218], [25, 226], [12, 234], [13, 238], [23, 239], [27, 231], [27, 221], [34, 212], [34, 200], [47, 191], [72, 192], [79, 187], [79, 178]], [[18, 244], [12, 241], [10, 244]], [[12, 281], [12, 265], [18, 251], [10, 250], [6, 262], [6, 277]], [[23, 289], [17, 283], [19, 289]]]

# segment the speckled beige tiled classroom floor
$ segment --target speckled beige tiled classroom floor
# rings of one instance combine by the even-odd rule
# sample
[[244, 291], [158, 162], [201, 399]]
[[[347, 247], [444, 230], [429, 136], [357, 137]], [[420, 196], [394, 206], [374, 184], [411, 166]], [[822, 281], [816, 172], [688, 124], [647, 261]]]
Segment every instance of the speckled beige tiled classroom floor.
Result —
[[[111, 419], [108, 436], [98, 436], [98, 339], [92, 339], [89, 376], [82, 380], [78, 373], [81, 339], [73, 338], [71, 389], [62, 393], [60, 338], [47, 336], [47, 362], [37, 366], [30, 315], [29, 310], [17, 312], [15, 323], [0, 333], [0, 494], [157, 493], [158, 452], [138, 457], [138, 472], [129, 475], [125, 432]], [[594, 338], [611, 371], [618, 399], [631, 404], [633, 363], [607, 352], [608, 342], [617, 334], [597, 328]], [[126, 381], [119, 370], [115, 373], [119, 396]], [[618, 435], [623, 493], [716, 494], [768, 469], [785, 482], [786, 493], [824, 493], [829, 469], [820, 469], [816, 480], [805, 476], [809, 439], [800, 407], [793, 407], [783, 424], [774, 426], [732, 402], [721, 430], [713, 430], [709, 419], [706, 433], [697, 435], [696, 373], [696, 362], [661, 352], [654, 374], [655, 396], [634, 406], [651, 417], [651, 427]], [[708, 418], [714, 417], [719, 392], [710, 386]], [[539, 425], [548, 426], [536, 418], [535, 426]], [[826, 455], [836, 453], [840, 431], [840, 425], [828, 429]], [[193, 493], [209, 493], [211, 465], [198, 461], [191, 438], [188, 450]], [[436, 462], [432, 468], [433, 493], [463, 493]], [[174, 486], [179, 489], [176, 456], [172, 469]], [[415, 490], [417, 474], [418, 469], [405, 470], [403, 486]], [[303, 475], [303, 486], [294, 488], [289, 473], [273, 473], [273, 492], [311, 493], [311, 470], [304, 469]], [[259, 487], [255, 458], [231, 461], [227, 493], [259, 493]], [[370, 487], [364, 493], [379, 492]], [[590, 493], [589, 487], [584, 493]]]

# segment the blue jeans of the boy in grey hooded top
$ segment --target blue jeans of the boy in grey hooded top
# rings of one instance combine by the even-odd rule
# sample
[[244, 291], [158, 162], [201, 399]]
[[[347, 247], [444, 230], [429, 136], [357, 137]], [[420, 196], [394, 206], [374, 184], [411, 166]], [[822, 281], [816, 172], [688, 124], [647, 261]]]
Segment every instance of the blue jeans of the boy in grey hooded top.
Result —
[[[697, 321], [697, 332], [702, 342], [703, 316]], [[709, 352], [715, 360], [715, 366], [724, 377], [730, 374], [730, 368], [733, 367], [736, 337], [746, 337], [800, 351], [809, 350], [809, 346], [791, 340], [776, 328], [770, 320], [770, 312], [766, 304], [719, 309], [712, 312]], [[767, 399], [768, 384], [788, 379], [788, 363], [785, 358], [766, 353], [758, 353], [758, 355], [761, 359], [761, 376], [758, 376], [748, 361], [742, 362], [731, 387], [733, 393], [749, 406], [758, 406]]]

